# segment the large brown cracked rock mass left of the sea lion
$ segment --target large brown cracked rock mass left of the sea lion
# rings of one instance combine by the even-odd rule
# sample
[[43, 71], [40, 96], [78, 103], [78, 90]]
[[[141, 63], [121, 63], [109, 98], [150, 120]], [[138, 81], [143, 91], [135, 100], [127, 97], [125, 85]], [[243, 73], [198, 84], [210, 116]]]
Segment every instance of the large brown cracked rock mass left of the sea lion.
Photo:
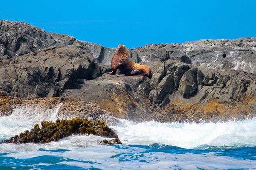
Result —
[[83, 46], [50, 47], [0, 63], [0, 89], [20, 97], [59, 96], [79, 79], [94, 79], [102, 71]]

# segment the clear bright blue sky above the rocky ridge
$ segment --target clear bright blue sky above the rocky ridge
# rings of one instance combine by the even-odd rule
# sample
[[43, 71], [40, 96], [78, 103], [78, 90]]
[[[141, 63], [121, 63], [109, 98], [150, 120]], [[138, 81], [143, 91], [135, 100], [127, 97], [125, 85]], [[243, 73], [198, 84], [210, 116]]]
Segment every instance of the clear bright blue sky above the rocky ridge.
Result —
[[256, 0], [3, 0], [3, 19], [106, 47], [134, 48], [256, 37]]

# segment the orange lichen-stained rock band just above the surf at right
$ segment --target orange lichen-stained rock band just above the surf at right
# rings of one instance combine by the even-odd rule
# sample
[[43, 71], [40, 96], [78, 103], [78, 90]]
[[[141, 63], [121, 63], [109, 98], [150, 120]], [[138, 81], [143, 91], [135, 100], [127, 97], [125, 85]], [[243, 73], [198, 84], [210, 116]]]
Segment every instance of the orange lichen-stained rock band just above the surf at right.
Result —
[[[184, 104], [182, 104], [184, 103]], [[227, 120], [242, 120], [255, 117], [252, 104], [255, 103], [255, 95], [245, 96], [241, 102], [219, 102], [218, 98], [212, 98], [208, 102], [190, 104], [185, 101], [170, 102], [162, 113], [171, 115], [169, 121], [179, 122], [217, 122]]]

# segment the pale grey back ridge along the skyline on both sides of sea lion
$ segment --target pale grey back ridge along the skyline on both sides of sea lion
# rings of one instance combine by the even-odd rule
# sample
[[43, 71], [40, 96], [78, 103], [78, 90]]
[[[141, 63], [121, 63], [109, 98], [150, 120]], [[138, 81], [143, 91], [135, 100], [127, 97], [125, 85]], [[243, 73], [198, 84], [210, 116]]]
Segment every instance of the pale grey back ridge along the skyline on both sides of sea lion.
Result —
[[[0, 59], [26, 54], [43, 48], [59, 45], [83, 45], [98, 59], [98, 63], [110, 65], [115, 48], [77, 41], [74, 37], [46, 33], [22, 22], [0, 21]], [[198, 40], [183, 44], [149, 44], [130, 49], [134, 62], [181, 61], [195, 66], [215, 69], [235, 69], [256, 73], [256, 38], [235, 40]], [[5, 56], [5, 57], [4, 57]]]

